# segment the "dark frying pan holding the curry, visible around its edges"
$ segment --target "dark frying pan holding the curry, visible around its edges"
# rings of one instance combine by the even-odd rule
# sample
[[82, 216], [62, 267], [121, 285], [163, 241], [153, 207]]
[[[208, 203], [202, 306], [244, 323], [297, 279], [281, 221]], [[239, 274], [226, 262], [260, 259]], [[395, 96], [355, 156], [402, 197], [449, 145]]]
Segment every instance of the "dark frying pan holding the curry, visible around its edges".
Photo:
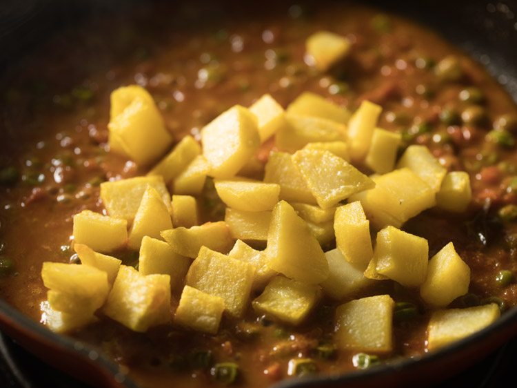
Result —
[[[125, 12], [139, 1], [10, 0], [0, 9], [0, 76], [6, 77], [17, 58], [60, 30], [106, 12]], [[246, 3], [246, 2], [244, 2]], [[368, 1], [373, 6], [409, 17], [440, 32], [487, 68], [517, 101], [517, 1]], [[245, 7], [258, 3], [245, 4]], [[260, 4], [263, 4], [260, 3]], [[259, 6], [260, 6], [259, 4]], [[239, 6], [239, 3], [234, 3]], [[243, 4], [241, 4], [243, 7]], [[248, 10], [249, 11], [249, 10]], [[94, 387], [138, 388], [118, 365], [96, 349], [59, 336], [23, 316], [0, 299], [0, 329], [41, 360]], [[490, 327], [441, 351], [344, 376], [288, 380], [278, 388], [420, 387], [436, 384], [474, 365], [517, 334], [517, 308], [503, 313]]]

